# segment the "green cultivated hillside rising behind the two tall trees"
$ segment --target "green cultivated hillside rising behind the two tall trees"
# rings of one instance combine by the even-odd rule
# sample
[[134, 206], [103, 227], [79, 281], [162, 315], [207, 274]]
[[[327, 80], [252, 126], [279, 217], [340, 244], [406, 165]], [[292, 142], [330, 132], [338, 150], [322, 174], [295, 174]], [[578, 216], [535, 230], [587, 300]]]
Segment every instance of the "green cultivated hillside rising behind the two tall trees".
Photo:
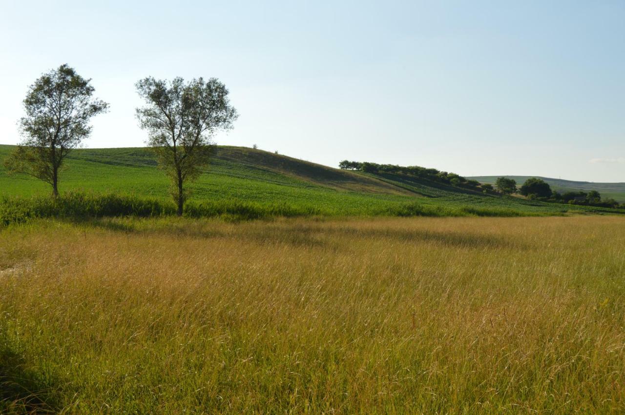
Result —
[[[0, 145], [0, 160], [13, 146]], [[394, 174], [350, 172], [246, 147], [217, 147], [207, 172], [189, 186], [191, 201], [236, 200], [315, 208], [327, 215], [371, 215], [406, 205], [427, 208], [502, 209], [502, 214], [611, 212], [519, 198]], [[168, 178], [144, 148], [79, 149], [66, 162], [59, 190], [153, 197], [169, 200]], [[9, 175], [0, 163], [0, 195], [47, 195], [49, 185], [24, 175]], [[414, 210], [414, 209], [413, 209]], [[410, 214], [410, 210], [404, 212]], [[478, 213], [479, 214], [479, 213]]]

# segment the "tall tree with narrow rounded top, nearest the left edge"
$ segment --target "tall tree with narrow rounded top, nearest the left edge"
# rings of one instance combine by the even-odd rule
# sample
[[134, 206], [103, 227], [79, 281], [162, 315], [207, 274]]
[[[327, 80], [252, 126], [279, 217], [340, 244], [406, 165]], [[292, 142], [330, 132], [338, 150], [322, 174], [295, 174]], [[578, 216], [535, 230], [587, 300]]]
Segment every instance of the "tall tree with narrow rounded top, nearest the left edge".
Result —
[[59, 195], [59, 170], [71, 150], [91, 134], [89, 120], [108, 104], [91, 97], [91, 79], [67, 64], [43, 74], [24, 99], [26, 116], [19, 120], [23, 140], [4, 164], [9, 172], [25, 173], [52, 186]]

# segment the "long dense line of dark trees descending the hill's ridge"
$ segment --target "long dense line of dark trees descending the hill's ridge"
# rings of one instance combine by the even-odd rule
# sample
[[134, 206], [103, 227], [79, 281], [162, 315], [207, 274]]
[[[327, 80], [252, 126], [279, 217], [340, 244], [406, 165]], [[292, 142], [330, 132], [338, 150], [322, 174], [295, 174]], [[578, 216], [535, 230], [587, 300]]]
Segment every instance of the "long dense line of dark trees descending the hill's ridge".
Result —
[[445, 183], [456, 187], [472, 188], [488, 192], [492, 190], [491, 185], [484, 187], [477, 180], [469, 180], [456, 173], [442, 172], [436, 168], [426, 168], [420, 166], [399, 166], [395, 164], [377, 164], [371, 162], [351, 162], [343, 160], [339, 163], [339, 168], [343, 170], [358, 170], [364, 173], [391, 173], [403, 174], [412, 177], [425, 178], [433, 182]]

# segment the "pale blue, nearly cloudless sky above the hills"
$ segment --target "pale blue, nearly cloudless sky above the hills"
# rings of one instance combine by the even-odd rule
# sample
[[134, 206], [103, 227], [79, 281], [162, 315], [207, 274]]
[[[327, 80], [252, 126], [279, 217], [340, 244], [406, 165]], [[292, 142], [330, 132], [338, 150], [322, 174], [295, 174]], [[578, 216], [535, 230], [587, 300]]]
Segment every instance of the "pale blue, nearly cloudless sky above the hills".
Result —
[[217, 77], [220, 145], [473, 175], [625, 182], [625, 1], [0, 0], [0, 144], [69, 64], [107, 114], [85, 147], [138, 147], [134, 84]]

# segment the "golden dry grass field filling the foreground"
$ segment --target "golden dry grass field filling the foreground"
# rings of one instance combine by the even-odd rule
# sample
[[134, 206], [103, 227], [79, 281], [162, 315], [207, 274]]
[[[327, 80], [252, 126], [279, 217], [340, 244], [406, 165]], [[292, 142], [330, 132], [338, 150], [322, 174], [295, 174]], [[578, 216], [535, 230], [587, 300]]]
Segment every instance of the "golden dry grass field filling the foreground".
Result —
[[0, 412], [623, 413], [621, 217], [0, 232]]

